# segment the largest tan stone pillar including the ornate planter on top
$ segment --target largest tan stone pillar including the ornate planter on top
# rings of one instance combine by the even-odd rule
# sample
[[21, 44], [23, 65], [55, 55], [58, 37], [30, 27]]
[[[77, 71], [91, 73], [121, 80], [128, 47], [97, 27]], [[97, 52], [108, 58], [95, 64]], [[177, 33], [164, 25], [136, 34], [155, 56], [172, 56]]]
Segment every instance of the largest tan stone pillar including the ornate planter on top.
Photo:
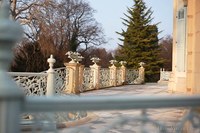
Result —
[[81, 61], [83, 57], [78, 52], [71, 51], [67, 52], [66, 55], [68, 55], [68, 58], [70, 58], [71, 61], [64, 64], [69, 71], [69, 77], [66, 79], [68, 80], [68, 88], [66, 88], [65, 92], [79, 94], [79, 61]]

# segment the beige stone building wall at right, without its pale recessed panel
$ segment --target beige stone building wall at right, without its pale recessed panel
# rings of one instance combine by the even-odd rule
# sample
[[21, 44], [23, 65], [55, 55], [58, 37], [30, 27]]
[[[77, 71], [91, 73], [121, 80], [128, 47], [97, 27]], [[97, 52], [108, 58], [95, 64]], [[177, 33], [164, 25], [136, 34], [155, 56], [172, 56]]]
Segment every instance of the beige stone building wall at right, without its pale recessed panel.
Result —
[[200, 93], [200, 0], [188, 0], [187, 34], [186, 34], [186, 72], [177, 71], [177, 21], [176, 15], [184, 0], [174, 0], [174, 32], [173, 32], [173, 73], [169, 82], [169, 90]]

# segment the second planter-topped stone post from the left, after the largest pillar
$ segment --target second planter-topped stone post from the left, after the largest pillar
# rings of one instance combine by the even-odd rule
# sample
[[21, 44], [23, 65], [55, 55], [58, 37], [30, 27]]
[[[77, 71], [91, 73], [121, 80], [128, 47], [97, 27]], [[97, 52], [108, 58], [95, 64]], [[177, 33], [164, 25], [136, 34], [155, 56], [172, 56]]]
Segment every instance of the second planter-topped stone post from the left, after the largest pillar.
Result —
[[97, 65], [97, 63], [100, 61], [99, 58], [97, 57], [93, 57], [92, 62], [94, 63], [92, 66], [90, 66], [93, 75], [94, 75], [94, 79], [93, 79], [93, 86], [95, 89], [99, 89], [100, 87], [100, 69], [101, 66]]

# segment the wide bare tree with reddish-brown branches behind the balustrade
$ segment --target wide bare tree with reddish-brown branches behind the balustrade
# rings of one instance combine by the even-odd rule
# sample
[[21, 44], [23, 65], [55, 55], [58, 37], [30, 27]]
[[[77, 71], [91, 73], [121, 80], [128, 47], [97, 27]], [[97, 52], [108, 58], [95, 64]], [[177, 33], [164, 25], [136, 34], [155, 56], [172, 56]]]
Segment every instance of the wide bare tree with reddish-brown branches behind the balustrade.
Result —
[[[43, 55], [41, 60], [54, 54], [57, 66], [62, 66], [67, 51], [77, 51], [79, 48], [87, 50], [105, 43], [103, 31], [93, 17], [94, 10], [83, 0], [10, 2], [13, 19], [23, 25], [28, 44], [39, 45]], [[23, 47], [16, 50], [27, 51], [25, 48], [23, 42]], [[27, 51], [27, 54], [30, 53]]]

